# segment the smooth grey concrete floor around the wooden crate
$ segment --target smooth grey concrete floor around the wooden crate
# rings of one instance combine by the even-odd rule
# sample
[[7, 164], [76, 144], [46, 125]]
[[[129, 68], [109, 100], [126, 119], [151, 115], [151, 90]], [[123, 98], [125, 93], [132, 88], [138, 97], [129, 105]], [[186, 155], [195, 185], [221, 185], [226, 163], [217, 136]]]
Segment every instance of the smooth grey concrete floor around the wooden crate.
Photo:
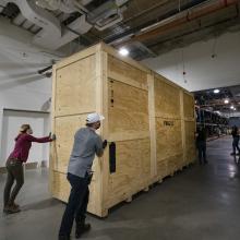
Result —
[[[238, 159], [229, 156], [231, 139], [208, 143], [208, 165], [166, 179], [148, 193], [121, 204], [106, 219], [88, 216], [92, 240], [236, 240], [240, 236]], [[5, 176], [0, 175], [0, 192]], [[23, 212], [0, 216], [0, 240], [53, 240], [64, 204], [52, 200], [48, 172], [29, 170], [17, 203]], [[2, 200], [0, 201], [2, 207]]]

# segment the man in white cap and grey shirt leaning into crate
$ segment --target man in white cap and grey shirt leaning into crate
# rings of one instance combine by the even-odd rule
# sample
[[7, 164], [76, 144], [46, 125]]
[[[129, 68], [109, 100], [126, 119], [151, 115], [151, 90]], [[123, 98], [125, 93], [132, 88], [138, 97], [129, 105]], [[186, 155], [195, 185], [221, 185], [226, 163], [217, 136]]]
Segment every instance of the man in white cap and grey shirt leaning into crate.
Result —
[[107, 141], [103, 142], [96, 133], [96, 130], [100, 128], [100, 121], [104, 119], [104, 116], [99, 113], [89, 113], [86, 118], [86, 128], [81, 128], [74, 135], [67, 177], [72, 189], [62, 217], [59, 240], [70, 239], [74, 218], [76, 239], [91, 229], [91, 225], [85, 224], [89, 196], [88, 184], [93, 175], [91, 168], [95, 154], [101, 157], [107, 146]]

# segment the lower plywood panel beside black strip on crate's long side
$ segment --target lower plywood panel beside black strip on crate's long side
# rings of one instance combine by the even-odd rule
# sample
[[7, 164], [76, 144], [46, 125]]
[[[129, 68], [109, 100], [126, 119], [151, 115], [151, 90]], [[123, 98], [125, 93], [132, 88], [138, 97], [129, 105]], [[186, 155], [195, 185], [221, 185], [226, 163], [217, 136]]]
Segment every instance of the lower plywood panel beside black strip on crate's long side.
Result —
[[148, 187], [149, 139], [116, 143], [116, 172], [109, 177], [108, 207]]

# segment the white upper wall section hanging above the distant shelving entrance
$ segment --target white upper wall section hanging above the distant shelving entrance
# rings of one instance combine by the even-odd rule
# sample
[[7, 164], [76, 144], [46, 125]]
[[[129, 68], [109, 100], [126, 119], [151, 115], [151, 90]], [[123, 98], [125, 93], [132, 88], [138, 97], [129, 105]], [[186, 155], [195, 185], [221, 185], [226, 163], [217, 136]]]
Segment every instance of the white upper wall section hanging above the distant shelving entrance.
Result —
[[[214, 45], [216, 57], [212, 58]], [[216, 43], [214, 39], [195, 43], [157, 58], [146, 59], [143, 63], [191, 92], [239, 85], [240, 32], [221, 35]]]

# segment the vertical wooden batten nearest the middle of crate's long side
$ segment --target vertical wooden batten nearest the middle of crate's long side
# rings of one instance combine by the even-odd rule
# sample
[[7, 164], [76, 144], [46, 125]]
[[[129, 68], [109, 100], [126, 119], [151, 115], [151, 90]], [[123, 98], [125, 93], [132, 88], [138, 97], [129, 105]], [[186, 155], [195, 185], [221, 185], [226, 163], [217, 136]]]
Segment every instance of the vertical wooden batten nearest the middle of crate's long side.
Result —
[[147, 75], [148, 82], [148, 115], [149, 115], [149, 132], [151, 132], [151, 177], [157, 175], [157, 149], [156, 149], [156, 120], [155, 120], [155, 86], [152, 74]]

